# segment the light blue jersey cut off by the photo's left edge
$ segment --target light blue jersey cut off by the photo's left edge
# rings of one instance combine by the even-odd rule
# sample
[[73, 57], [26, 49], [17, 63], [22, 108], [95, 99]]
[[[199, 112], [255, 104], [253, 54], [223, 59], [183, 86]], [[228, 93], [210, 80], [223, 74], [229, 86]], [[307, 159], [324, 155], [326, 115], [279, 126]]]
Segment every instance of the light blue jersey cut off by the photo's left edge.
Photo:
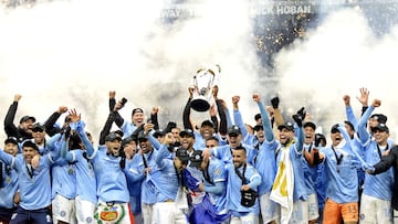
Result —
[[18, 191], [18, 173], [10, 166], [1, 162], [2, 180], [0, 183], [0, 210], [14, 207], [13, 196]]

